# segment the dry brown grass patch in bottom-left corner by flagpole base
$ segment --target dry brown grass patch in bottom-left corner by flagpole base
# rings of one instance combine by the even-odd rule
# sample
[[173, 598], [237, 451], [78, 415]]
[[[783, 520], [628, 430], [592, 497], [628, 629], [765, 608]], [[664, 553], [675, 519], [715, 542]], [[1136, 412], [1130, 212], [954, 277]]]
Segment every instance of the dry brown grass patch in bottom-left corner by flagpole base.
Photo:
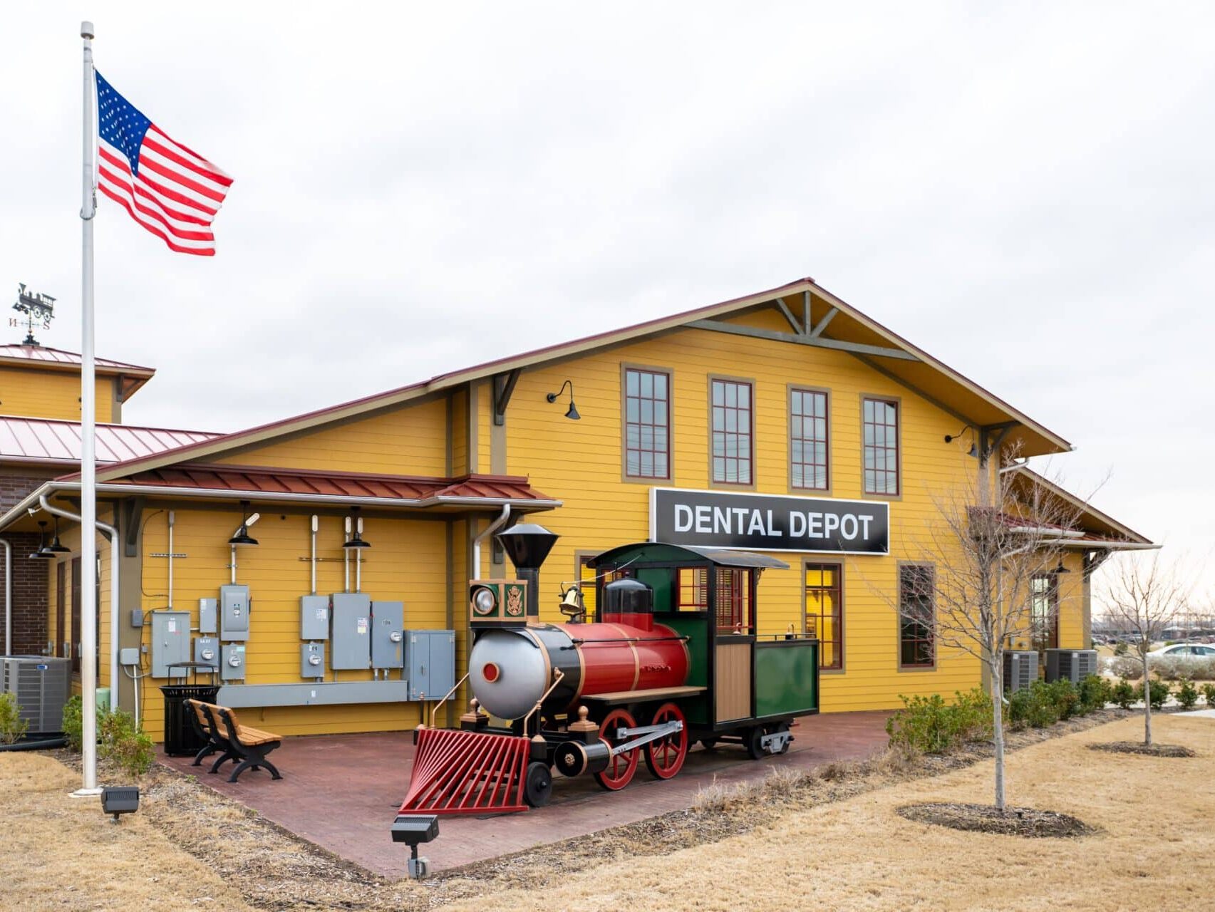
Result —
[[19, 910], [248, 910], [219, 874], [142, 814], [109, 822], [80, 776], [45, 754], [0, 753], [0, 906]]

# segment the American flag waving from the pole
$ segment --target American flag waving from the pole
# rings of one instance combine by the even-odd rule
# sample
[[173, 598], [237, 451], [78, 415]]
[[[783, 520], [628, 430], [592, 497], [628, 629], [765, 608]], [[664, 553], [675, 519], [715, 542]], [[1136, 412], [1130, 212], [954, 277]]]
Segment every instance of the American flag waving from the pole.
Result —
[[97, 189], [179, 254], [215, 256], [232, 179], [170, 140], [97, 73]]

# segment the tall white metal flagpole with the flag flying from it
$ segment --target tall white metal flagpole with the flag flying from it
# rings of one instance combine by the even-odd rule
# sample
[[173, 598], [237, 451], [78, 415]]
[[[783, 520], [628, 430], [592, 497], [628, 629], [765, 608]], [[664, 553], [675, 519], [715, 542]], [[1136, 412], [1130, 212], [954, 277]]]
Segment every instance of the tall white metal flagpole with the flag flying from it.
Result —
[[[91, 22], [80, 23], [84, 39], [84, 140], [80, 223], [80, 699], [84, 783], [74, 795], [95, 795], [97, 788], [97, 463], [96, 383], [92, 356], [92, 217], [97, 203], [92, 187], [92, 149], [97, 130], [92, 121]], [[115, 630], [111, 635], [117, 635]], [[118, 686], [118, 681], [111, 681]]]

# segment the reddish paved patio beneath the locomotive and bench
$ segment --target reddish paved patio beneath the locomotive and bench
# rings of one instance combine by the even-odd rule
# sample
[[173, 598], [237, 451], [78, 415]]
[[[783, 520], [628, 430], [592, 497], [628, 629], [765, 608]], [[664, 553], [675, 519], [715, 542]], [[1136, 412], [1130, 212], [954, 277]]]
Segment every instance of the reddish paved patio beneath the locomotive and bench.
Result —
[[[812, 770], [835, 760], [864, 759], [886, 746], [888, 716], [887, 712], [807, 716], [793, 729], [796, 740], [787, 754], [758, 761], [733, 744], [717, 750], [697, 747], [673, 780], [654, 780], [643, 765], [621, 792], [604, 792], [589, 776], [556, 775], [547, 808], [493, 817], [443, 816], [440, 837], [425, 854], [436, 871], [459, 867], [682, 810], [714, 780], [730, 784], [762, 778], [776, 766]], [[226, 772], [207, 774], [210, 760], [191, 766], [188, 757], [159, 759], [349, 861], [385, 877], [405, 876], [408, 850], [391, 842], [389, 827], [409, 782], [412, 732], [288, 737], [270, 758], [283, 775], [277, 782], [265, 770], [249, 770], [230, 783]]]

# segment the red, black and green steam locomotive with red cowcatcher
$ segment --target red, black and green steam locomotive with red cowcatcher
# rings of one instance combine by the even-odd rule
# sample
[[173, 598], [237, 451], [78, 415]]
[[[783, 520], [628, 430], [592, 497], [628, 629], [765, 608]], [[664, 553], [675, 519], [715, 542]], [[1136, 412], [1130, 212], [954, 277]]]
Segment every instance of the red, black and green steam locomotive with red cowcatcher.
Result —
[[538, 808], [554, 769], [616, 791], [644, 758], [666, 780], [696, 741], [780, 754], [792, 720], [818, 712], [818, 640], [757, 633], [759, 577], [781, 561], [622, 545], [590, 562], [597, 610], [570, 589], [567, 623], [550, 624], [538, 619], [537, 584], [556, 536], [516, 525], [498, 540], [520, 579], [469, 584], [470, 710], [458, 730], [419, 726], [401, 814]]

